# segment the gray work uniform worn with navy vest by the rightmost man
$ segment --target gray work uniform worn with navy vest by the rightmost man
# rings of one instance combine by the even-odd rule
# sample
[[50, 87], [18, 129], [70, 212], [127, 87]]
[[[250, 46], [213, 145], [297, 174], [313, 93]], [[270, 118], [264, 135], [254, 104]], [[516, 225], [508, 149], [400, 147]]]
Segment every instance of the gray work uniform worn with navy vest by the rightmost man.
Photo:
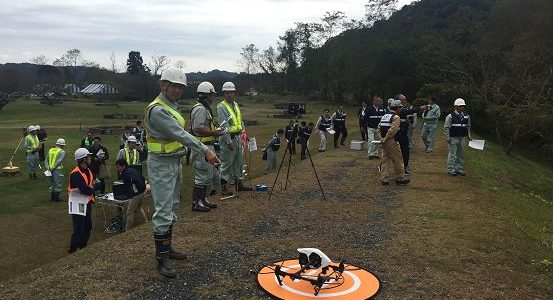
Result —
[[[459, 118], [465, 118], [467, 124], [464, 124], [464, 127], [467, 128], [467, 136], [470, 136], [471, 122], [467, 114], [460, 114], [458, 112], [453, 112], [446, 116], [444, 120], [444, 134], [448, 139], [448, 162], [447, 162], [447, 171], [449, 174], [456, 174], [464, 172], [464, 135], [452, 136], [450, 129], [452, 127], [452, 115], [456, 114]], [[458, 124], [461, 125], [461, 124]]]

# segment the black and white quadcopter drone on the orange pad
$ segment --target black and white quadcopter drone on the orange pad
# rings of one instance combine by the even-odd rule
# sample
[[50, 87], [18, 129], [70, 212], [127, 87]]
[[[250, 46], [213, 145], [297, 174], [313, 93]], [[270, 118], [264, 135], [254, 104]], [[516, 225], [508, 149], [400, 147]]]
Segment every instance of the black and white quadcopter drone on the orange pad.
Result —
[[[327, 255], [325, 255], [321, 250], [316, 248], [298, 248], [296, 249], [300, 252], [298, 257], [298, 263], [300, 264], [300, 270], [296, 272], [287, 272], [283, 271], [282, 265], [275, 265], [275, 277], [279, 282], [279, 285], [283, 285], [282, 279], [284, 277], [289, 277], [292, 280], [303, 280], [312, 284], [314, 287], [314, 295], [317, 296], [319, 291], [321, 291], [323, 285], [341, 285], [343, 280], [342, 272], [344, 272], [344, 260], [340, 262], [338, 266], [334, 266], [331, 263], [331, 260]], [[332, 270], [330, 274], [329, 269]], [[296, 270], [296, 269], [295, 269]], [[316, 275], [307, 274], [307, 271], [311, 270], [321, 270], [321, 272]]]

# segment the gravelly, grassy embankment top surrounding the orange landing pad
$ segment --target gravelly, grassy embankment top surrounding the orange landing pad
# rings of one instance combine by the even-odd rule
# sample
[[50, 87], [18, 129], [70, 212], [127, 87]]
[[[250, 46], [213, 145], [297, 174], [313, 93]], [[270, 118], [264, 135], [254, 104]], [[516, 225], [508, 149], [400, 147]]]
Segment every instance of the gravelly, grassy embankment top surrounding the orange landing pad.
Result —
[[[193, 214], [184, 202], [174, 243], [190, 257], [175, 262], [176, 279], [157, 275], [145, 224], [2, 282], [0, 298], [267, 298], [249, 270], [318, 247], [375, 272], [379, 299], [551, 299], [552, 273], [532, 265], [534, 245], [522, 243], [471, 170], [447, 177], [445, 157], [442, 142], [432, 155], [416, 148], [410, 185], [382, 187], [378, 161], [365, 152], [318, 154], [325, 201], [303, 161], [271, 201], [245, 193], [209, 214]], [[255, 180], [272, 182], [272, 175]]]

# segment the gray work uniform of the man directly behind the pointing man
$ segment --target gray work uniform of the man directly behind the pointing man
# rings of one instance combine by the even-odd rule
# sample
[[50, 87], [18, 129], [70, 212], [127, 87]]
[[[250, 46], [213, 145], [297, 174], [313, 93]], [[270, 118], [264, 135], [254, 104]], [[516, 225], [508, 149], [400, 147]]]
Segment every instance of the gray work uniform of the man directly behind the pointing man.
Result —
[[[192, 123], [191, 127], [194, 134], [197, 134], [196, 132], [194, 132], [195, 128], [212, 130], [211, 125], [213, 121], [210, 118], [210, 112], [203, 105], [195, 106], [190, 113], [190, 118]], [[204, 142], [204, 144], [215, 153], [214, 142], [215, 140]], [[206, 161], [204, 153], [192, 151], [191, 158], [194, 166], [194, 184], [205, 186], [206, 193], [207, 195], [209, 195], [214, 188], [214, 182], [216, 181], [215, 178], [217, 178], [217, 180], [219, 181], [219, 172], [213, 165]]]

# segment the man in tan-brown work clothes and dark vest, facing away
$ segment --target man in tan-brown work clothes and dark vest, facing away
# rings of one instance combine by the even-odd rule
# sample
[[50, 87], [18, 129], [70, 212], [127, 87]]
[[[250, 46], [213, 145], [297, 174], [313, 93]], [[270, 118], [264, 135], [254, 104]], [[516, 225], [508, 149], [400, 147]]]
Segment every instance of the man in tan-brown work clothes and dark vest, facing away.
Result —
[[394, 166], [394, 175], [397, 184], [407, 184], [409, 179], [404, 177], [404, 162], [402, 160], [402, 152], [398, 143], [398, 135], [400, 130], [400, 117], [398, 116], [402, 103], [400, 100], [390, 101], [390, 113], [385, 114], [379, 123], [381, 132], [381, 146], [383, 148], [383, 157], [381, 161], [381, 184], [389, 184], [389, 169], [390, 164]]

